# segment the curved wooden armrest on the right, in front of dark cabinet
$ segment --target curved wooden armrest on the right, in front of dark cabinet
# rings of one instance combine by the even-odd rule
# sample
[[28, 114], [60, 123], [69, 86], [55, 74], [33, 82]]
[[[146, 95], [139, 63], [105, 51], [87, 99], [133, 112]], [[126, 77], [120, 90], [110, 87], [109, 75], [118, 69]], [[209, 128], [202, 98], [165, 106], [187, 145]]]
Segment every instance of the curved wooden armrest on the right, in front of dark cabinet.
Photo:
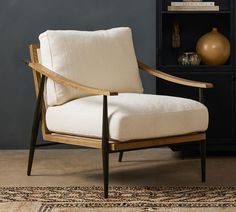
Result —
[[190, 86], [190, 87], [196, 87], [196, 88], [213, 88], [213, 84], [211, 84], [211, 83], [198, 82], [198, 81], [183, 79], [180, 77], [175, 77], [170, 74], [166, 74], [162, 71], [158, 71], [154, 68], [151, 68], [151, 67], [147, 66], [146, 64], [139, 62], [139, 61], [138, 61], [138, 66], [140, 69], [144, 70], [148, 74], [151, 74], [155, 77], [158, 77], [160, 79], [163, 79], [163, 80], [166, 80], [169, 82], [173, 82], [173, 83], [180, 84], [180, 85], [186, 85], [186, 86]]

